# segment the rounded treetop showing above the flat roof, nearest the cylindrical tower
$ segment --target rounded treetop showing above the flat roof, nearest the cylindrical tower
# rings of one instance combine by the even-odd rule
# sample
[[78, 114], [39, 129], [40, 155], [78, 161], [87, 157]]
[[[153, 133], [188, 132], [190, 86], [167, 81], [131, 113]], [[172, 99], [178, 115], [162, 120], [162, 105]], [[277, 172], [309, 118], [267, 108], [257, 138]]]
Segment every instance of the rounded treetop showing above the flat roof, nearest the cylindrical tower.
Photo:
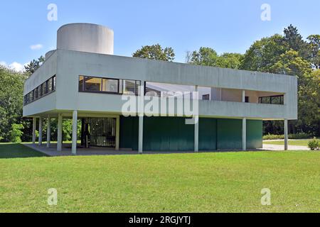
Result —
[[162, 60], [173, 62], [174, 57], [176, 56], [174, 53], [174, 49], [172, 48], [161, 48], [161, 45], [146, 45], [143, 46], [140, 50], [137, 50], [132, 54], [133, 57], [146, 58], [152, 60]]

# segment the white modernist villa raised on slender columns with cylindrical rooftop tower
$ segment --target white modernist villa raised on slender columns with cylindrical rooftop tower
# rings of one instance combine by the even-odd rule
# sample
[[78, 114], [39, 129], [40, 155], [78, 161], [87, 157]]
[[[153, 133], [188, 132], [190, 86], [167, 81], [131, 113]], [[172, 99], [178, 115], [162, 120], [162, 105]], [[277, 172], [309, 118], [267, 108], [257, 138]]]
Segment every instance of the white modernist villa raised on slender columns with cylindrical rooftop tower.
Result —
[[[287, 121], [297, 119], [297, 77], [115, 56], [113, 44], [114, 33], [104, 26], [74, 23], [58, 30], [57, 49], [24, 87], [23, 116], [33, 118], [33, 143], [38, 126], [42, 145], [43, 118], [58, 118], [61, 151], [63, 118], [72, 118], [73, 154], [78, 138], [85, 148], [139, 153], [247, 150], [262, 148], [262, 121], [282, 120], [287, 149]], [[186, 124], [190, 116], [166, 108], [170, 101], [178, 106], [174, 92], [198, 92], [196, 123]], [[158, 113], [138, 108], [124, 114], [123, 95], [144, 100], [150, 94]], [[50, 135], [49, 123], [48, 147]]]

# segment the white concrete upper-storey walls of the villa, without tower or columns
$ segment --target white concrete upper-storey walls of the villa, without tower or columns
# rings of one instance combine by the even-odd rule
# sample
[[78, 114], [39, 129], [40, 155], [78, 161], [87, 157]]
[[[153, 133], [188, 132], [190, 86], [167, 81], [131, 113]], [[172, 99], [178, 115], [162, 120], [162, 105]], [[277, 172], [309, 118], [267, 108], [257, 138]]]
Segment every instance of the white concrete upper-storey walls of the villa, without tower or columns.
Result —
[[201, 100], [199, 116], [297, 119], [297, 77], [294, 76], [56, 50], [26, 81], [24, 94], [53, 75], [56, 76], [56, 91], [24, 106], [23, 116], [48, 112], [72, 114], [72, 110], [121, 114], [121, 96], [78, 92], [79, 76], [87, 75], [285, 94], [284, 105]]

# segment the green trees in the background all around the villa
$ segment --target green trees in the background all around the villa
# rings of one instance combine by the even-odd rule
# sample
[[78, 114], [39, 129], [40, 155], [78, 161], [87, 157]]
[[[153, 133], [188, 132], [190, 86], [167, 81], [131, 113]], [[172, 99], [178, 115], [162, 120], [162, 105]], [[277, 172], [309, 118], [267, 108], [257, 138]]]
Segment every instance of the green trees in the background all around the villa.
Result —
[[[173, 62], [173, 48], [146, 45], [133, 57]], [[0, 65], [0, 142], [31, 141], [32, 121], [22, 118], [23, 84], [43, 63], [41, 56], [31, 61], [25, 72], [14, 72]], [[320, 35], [309, 35], [306, 40], [296, 27], [284, 28], [275, 34], [255, 41], [245, 54], [225, 52], [221, 55], [210, 47], [186, 52], [186, 63], [238, 70], [296, 75], [298, 79], [298, 120], [289, 121], [289, 133], [320, 135]], [[43, 135], [46, 135], [46, 121]], [[52, 138], [56, 139], [57, 122], [51, 123]], [[63, 121], [63, 139], [70, 140], [72, 122]], [[264, 134], [283, 133], [281, 121], [265, 121]]]

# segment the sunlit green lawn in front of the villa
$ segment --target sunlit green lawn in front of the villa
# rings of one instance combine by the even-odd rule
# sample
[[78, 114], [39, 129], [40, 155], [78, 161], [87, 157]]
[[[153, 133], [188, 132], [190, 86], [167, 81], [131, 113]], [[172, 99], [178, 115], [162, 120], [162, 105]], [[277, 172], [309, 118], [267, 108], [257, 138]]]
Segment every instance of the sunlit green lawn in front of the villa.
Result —
[[30, 157], [2, 144], [1, 157], [11, 150], [29, 157], [0, 159], [0, 212], [320, 212], [319, 152]]

